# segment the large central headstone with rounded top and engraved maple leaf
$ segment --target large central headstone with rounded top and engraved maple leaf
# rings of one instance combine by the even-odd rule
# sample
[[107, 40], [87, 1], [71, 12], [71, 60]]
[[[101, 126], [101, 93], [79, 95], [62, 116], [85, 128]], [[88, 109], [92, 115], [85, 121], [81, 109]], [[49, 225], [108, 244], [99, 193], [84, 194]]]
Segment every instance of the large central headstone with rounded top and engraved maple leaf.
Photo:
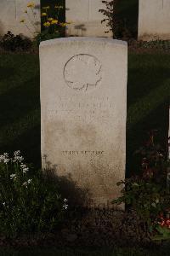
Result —
[[93, 206], [120, 195], [125, 177], [127, 44], [59, 38], [40, 45], [42, 166], [71, 175]]

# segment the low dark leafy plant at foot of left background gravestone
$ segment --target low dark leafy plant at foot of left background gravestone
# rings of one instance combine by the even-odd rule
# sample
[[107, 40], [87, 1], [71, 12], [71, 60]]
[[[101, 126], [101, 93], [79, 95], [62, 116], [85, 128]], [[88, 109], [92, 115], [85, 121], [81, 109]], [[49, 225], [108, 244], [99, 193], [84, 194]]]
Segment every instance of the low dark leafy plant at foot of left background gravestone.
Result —
[[29, 38], [24, 38], [20, 35], [14, 36], [12, 32], [8, 31], [1, 39], [0, 46], [5, 50], [11, 51], [28, 50], [31, 49], [32, 43]]

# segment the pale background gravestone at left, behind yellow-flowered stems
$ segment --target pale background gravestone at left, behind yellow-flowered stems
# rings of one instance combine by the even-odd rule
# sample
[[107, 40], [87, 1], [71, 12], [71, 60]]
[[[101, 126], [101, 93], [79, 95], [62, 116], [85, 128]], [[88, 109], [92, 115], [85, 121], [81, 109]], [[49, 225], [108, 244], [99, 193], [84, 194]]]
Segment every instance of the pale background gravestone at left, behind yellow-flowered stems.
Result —
[[[40, 0], [35, 0], [35, 9], [26, 8], [27, 0], [0, 0], [0, 35], [3, 36], [8, 31], [16, 34], [23, 34], [28, 38], [35, 36], [34, 32], [40, 32]], [[27, 14], [25, 10], [27, 9]], [[26, 20], [20, 23], [20, 20]]]

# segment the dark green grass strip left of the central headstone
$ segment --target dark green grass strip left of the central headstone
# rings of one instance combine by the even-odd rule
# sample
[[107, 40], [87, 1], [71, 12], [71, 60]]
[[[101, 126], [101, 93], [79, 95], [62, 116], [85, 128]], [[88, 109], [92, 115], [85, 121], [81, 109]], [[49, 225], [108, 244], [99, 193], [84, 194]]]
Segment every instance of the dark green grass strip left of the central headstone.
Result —
[[38, 55], [0, 55], [0, 152], [40, 166]]

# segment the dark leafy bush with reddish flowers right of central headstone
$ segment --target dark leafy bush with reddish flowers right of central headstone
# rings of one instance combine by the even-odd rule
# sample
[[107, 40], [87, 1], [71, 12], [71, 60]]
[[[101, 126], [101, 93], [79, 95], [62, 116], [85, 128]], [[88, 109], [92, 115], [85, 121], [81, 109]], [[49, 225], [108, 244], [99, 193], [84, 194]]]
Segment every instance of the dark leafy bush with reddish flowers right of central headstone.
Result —
[[155, 130], [150, 131], [149, 140], [135, 152], [141, 158], [140, 175], [117, 183], [123, 185], [122, 196], [113, 203], [123, 202], [137, 212], [150, 237], [167, 239], [170, 238], [170, 219], [165, 221], [164, 218], [170, 211], [170, 193], [167, 189], [169, 161], [166, 150], [155, 143], [155, 133]]

